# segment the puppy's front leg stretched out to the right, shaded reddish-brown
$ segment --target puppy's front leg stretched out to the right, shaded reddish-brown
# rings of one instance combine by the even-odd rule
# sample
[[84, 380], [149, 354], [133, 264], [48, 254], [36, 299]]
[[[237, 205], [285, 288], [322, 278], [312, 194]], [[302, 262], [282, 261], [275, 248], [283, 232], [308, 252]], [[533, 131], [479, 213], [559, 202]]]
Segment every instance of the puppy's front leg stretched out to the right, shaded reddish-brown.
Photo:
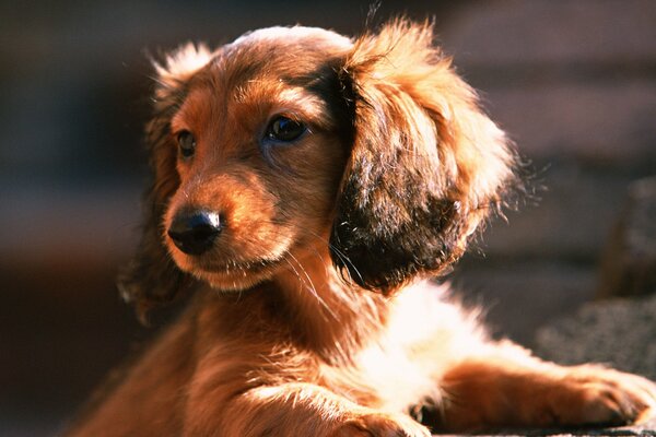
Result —
[[656, 385], [645, 378], [546, 363], [509, 342], [458, 362], [442, 387], [441, 425], [448, 430], [621, 425], [656, 408]]

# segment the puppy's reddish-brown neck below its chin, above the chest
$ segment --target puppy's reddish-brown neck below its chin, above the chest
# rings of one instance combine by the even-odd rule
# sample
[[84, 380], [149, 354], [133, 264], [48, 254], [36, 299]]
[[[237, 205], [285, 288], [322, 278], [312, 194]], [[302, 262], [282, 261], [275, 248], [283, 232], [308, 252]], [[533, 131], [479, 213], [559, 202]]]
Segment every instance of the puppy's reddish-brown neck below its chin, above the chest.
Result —
[[199, 296], [198, 322], [212, 336], [239, 332], [263, 343], [273, 330], [277, 339], [286, 336], [291, 345], [312, 351], [313, 356], [348, 365], [384, 330], [389, 302], [349, 286], [325, 260], [329, 255], [316, 251], [295, 256], [293, 267], [249, 291], [224, 294], [207, 288]]

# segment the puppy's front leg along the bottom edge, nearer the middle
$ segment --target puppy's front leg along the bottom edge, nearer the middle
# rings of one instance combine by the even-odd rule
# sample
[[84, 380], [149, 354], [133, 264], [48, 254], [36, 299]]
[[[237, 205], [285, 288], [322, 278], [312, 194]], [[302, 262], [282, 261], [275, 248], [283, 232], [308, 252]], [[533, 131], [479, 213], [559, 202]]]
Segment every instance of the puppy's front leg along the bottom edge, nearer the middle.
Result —
[[430, 437], [424, 426], [407, 415], [367, 409], [301, 382], [250, 389], [213, 416], [221, 418], [188, 417], [184, 435]]

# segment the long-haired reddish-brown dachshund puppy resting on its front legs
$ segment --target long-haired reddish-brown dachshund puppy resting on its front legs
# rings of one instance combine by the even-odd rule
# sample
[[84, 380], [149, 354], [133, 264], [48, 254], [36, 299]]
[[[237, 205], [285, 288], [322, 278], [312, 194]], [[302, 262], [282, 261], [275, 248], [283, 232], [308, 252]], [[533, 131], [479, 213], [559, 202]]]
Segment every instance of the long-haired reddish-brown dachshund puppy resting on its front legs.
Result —
[[518, 185], [431, 25], [266, 28], [156, 71], [121, 287], [142, 312], [194, 298], [70, 435], [427, 436], [656, 405], [644, 378], [490, 339], [431, 282]]

